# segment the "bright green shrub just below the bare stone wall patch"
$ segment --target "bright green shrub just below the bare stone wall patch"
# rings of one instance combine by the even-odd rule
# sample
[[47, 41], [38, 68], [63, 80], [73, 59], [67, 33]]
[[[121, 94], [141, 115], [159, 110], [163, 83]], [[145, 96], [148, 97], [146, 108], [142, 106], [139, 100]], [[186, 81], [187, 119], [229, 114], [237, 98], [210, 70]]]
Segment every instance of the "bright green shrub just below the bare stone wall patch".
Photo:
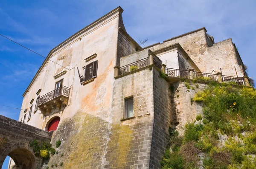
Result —
[[198, 141], [199, 137], [202, 134], [202, 130], [204, 130], [204, 126], [202, 124], [188, 123], [185, 125], [185, 133], [184, 133], [184, 141]]

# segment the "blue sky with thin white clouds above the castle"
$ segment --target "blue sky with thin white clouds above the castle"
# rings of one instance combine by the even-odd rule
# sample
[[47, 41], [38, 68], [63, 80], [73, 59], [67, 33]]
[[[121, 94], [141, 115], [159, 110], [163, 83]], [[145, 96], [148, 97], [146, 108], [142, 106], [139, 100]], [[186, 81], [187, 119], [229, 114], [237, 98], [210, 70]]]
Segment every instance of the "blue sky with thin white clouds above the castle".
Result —
[[[255, 79], [255, 0], [0, 0], [0, 34], [47, 56], [52, 48], [118, 6], [124, 9], [128, 34], [138, 43], [148, 39], [145, 46], [202, 27], [215, 42], [232, 38], [249, 77]], [[0, 104], [20, 108], [22, 94], [43, 61], [0, 36]], [[20, 110], [2, 105], [0, 115], [18, 119]]]

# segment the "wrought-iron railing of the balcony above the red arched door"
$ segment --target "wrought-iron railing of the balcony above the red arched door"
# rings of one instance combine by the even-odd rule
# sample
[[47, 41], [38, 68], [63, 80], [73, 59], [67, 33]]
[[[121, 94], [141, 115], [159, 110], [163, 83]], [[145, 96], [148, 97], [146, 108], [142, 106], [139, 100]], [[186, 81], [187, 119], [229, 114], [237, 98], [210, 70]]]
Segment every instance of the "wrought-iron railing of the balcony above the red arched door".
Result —
[[66, 96], [69, 97], [70, 88], [66, 86], [58, 87], [55, 90], [52, 90], [51, 92], [45, 94], [44, 96], [41, 96], [38, 101], [38, 106], [55, 99], [58, 96]]

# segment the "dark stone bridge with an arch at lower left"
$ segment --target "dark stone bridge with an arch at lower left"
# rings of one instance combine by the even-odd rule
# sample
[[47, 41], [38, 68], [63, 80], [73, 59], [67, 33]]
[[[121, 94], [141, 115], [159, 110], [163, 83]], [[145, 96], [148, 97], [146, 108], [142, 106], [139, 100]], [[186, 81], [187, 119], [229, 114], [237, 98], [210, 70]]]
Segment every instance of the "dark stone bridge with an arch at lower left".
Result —
[[20, 121], [0, 115], [0, 168], [9, 155], [17, 169], [40, 169], [42, 159], [35, 157], [29, 141], [50, 142], [52, 132], [46, 132]]

